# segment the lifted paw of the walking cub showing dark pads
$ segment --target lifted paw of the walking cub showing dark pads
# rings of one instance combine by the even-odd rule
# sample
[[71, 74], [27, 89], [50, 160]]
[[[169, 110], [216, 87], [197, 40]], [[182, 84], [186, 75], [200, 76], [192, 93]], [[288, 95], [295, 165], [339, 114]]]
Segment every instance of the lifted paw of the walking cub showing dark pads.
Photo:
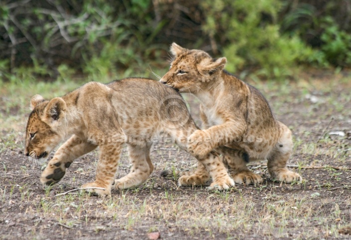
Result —
[[45, 186], [58, 183], [65, 176], [68, 163], [61, 162], [49, 163], [45, 170], [41, 173], [40, 182]]

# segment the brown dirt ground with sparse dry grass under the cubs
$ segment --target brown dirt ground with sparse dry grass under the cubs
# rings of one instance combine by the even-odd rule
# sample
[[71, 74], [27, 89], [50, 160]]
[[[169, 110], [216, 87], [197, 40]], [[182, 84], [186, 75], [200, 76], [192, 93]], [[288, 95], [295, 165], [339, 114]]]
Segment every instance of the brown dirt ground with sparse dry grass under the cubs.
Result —
[[[224, 192], [177, 187], [160, 173], [191, 169], [196, 161], [175, 144], [160, 142], [151, 152], [155, 170], [140, 187], [106, 197], [80, 191], [57, 196], [94, 179], [96, 152], [77, 159], [46, 191], [39, 182], [41, 167], [23, 154], [24, 129], [2, 129], [0, 239], [134, 240], [149, 239], [151, 232], [163, 240], [351, 239], [350, 80], [312, 74], [299, 83], [252, 82], [294, 133], [288, 164], [303, 177], [301, 184], [273, 182], [261, 161], [249, 163], [264, 179], [256, 186]], [[197, 100], [185, 99], [198, 122]], [[20, 118], [23, 126], [26, 117]], [[117, 178], [128, 171], [124, 150]]]

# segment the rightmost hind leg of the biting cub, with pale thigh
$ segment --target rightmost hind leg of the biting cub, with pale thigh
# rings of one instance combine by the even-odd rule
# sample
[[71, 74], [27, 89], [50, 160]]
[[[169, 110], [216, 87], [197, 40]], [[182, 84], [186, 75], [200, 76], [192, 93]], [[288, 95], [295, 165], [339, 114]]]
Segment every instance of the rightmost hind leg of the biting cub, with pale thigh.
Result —
[[284, 181], [286, 183], [291, 183], [294, 181], [301, 182], [302, 177], [289, 171], [286, 168], [286, 162], [288, 161], [293, 148], [291, 131], [287, 126], [279, 122], [280, 137], [278, 143], [270, 153], [268, 157], [268, 171], [272, 178], [278, 181]]

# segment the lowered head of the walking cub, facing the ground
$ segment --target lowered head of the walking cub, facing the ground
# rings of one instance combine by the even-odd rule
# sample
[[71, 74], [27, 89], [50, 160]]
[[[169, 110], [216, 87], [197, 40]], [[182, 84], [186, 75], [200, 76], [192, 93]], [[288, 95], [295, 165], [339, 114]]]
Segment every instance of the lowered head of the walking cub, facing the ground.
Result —
[[34, 160], [46, 159], [63, 140], [66, 102], [59, 97], [45, 101], [42, 96], [34, 95], [30, 105], [24, 154]]

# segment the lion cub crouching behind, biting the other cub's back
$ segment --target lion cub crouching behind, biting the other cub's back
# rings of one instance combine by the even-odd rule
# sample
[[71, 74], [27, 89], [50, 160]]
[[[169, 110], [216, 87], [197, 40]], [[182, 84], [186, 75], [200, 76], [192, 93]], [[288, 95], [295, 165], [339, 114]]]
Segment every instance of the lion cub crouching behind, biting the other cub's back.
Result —
[[[291, 131], [275, 120], [268, 102], [256, 88], [224, 70], [225, 57], [213, 59], [205, 51], [185, 49], [176, 43], [170, 51], [174, 60], [160, 82], [192, 93], [201, 102], [204, 129], [190, 136], [191, 153], [201, 158], [217, 148], [239, 184], [262, 182], [259, 175], [247, 169], [244, 160], [248, 158], [268, 159], [268, 171], [274, 179], [286, 183], [302, 180], [286, 168], [293, 148]], [[205, 172], [202, 166], [199, 172]]]

